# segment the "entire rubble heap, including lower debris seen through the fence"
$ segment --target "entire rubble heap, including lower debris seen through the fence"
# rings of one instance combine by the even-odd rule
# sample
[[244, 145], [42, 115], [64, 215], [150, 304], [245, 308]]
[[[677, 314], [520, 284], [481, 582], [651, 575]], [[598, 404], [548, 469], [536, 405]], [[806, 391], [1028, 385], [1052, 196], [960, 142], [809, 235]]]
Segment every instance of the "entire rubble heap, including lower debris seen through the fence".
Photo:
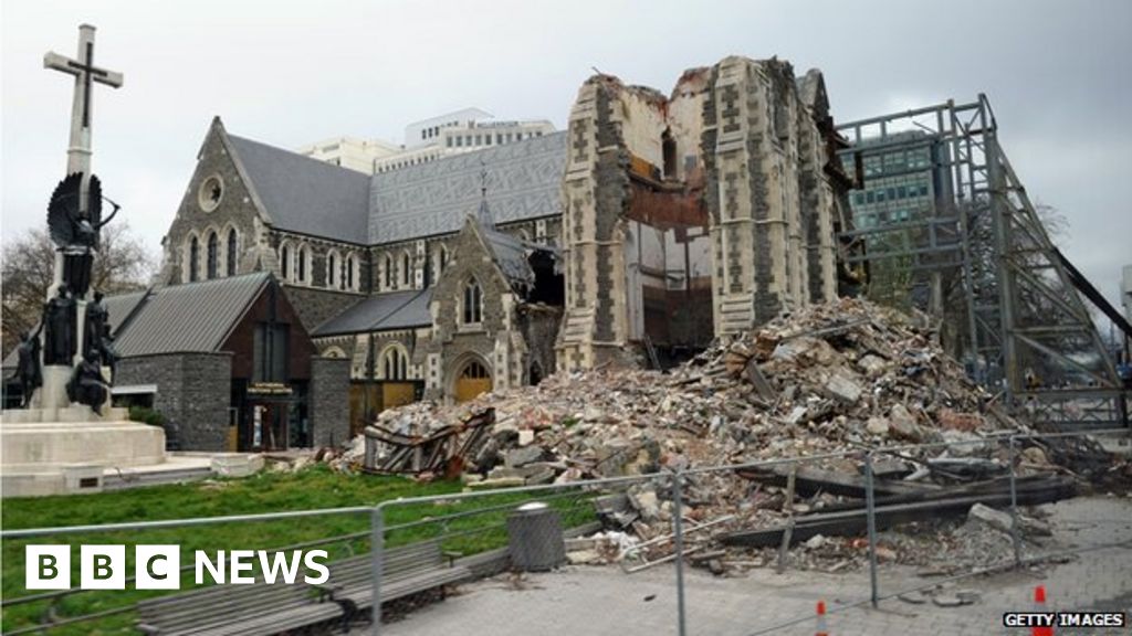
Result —
[[[815, 306], [669, 373], [559, 373], [465, 404], [386, 411], [337, 463], [421, 479], [462, 473], [477, 489], [812, 457], [686, 475], [689, 560], [729, 571], [784, 564], [799, 545], [794, 567], [835, 571], [865, 556], [860, 452], [938, 444], [874, 457], [878, 523], [951, 517], [927, 551], [977, 552], [964, 540], [971, 527], [962, 534], [957, 524], [975, 505], [1009, 504], [1005, 445], [990, 437], [1024, 427], [988, 404], [926, 324], [860, 300]], [[1020, 502], [1073, 495], [1071, 479], [1050, 474], [1067, 471], [1053, 466], [1049, 447], [1020, 452]], [[672, 501], [671, 480], [599, 498], [618, 547], [586, 552], [644, 566], [670, 555]], [[889, 541], [878, 557], [924, 565], [914, 543]]]

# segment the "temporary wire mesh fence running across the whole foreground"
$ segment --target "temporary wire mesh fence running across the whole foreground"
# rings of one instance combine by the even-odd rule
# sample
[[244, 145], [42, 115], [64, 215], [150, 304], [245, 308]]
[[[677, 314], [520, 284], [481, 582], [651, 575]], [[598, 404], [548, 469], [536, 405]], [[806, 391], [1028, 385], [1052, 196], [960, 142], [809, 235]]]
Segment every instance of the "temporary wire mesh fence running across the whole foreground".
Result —
[[[1108, 495], [1129, 473], [1101, 442], [1126, 431], [500, 488], [552, 479], [531, 467], [376, 507], [5, 531], [3, 633], [995, 631], [1036, 576], [1054, 609], [1132, 600], [1132, 499]], [[29, 544], [71, 547], [67, 588], [11, 576]], [[80, 588], [79, 544], [125, 547], [123, 590]], [[178, 590], [138, 588], [154, 545], [174, 545]]]

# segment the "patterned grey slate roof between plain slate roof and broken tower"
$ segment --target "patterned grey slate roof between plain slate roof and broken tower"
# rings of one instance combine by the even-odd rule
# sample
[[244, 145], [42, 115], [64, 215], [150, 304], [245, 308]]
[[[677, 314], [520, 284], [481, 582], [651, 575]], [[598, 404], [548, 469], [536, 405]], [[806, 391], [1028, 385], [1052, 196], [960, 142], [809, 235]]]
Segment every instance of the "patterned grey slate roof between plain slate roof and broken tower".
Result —
[[372, 177], [369, 242], [404, 241], [460, 231], [480, 203], [480, 173], [496, 223], [561, 212], [566, 131], [464, 153]]

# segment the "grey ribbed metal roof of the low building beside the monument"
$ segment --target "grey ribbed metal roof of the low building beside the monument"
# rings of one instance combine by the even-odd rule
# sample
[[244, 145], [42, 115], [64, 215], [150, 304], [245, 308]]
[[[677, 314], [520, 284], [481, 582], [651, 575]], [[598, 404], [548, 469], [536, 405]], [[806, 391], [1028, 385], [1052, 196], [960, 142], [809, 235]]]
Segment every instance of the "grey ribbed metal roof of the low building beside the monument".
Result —
[[[156, 287], [139, 307], [135, 304], [134, 317], [125, 329], [119, 329], [114, 346], [123, 358], [218, 351], [269, 280], [271, 274], [256, 272]], [[130, 300], [127, 296], [106, 299], [111, 321], [117, 319], [118, 308], [127, 307]]]

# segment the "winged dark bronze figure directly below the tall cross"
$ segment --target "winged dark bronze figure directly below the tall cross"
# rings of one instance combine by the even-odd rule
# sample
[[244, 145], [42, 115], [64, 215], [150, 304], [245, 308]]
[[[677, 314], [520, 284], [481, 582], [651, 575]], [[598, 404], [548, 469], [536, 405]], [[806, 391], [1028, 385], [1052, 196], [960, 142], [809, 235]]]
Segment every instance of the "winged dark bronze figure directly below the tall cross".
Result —
[[86, 295], [94, 252], [98, 250], [98, 233], [119, 210], [118, 204], [110, 201], [114, 210], [105, 221], [102, 220], [102, 183], [92, 174], [84, 212], [80, 205], [82, 187], [83, 173], [69, 174], [55, 187], [48, 204], [51, 240], [63, 253], [63, 282], [75, 298]]

